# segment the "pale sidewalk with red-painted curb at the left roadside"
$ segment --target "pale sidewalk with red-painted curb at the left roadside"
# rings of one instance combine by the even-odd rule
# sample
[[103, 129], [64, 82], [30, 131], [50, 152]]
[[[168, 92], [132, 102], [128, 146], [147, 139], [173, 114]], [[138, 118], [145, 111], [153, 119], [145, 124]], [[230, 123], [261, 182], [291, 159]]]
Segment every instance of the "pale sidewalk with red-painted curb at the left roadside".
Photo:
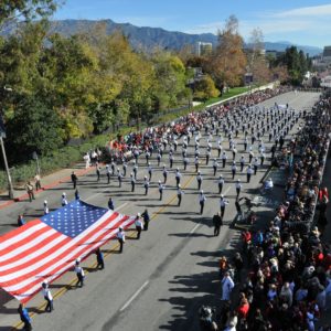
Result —
[[[85, 169], [85, 163], [77, 163], [76, 166], [72, 168], [65, 168], [61, 169], [58, 171], [55, 171], [51, 174], [47, 174], [41, 179], [42, 189], [39, 191], [34, 191], [34, 194], [38, 195], [40, 192], [43, 192], [45, 190], [53, 189], [57, 186], [58, 184], [63, 182], [71, 181], [71, 174], [73, 171], [75, 171], [77, 177], [85, 175], [86, 173], [93, 171], [95, 168], [89, 167]], [[2, 192], [0, 194], [0, 210], [12, 205], [15, 202], [28, 200], [29, 195], [25, 191], [24, 185], [22, 186], [14, 186], [14, 199], [8, 197], [8, 191]]]

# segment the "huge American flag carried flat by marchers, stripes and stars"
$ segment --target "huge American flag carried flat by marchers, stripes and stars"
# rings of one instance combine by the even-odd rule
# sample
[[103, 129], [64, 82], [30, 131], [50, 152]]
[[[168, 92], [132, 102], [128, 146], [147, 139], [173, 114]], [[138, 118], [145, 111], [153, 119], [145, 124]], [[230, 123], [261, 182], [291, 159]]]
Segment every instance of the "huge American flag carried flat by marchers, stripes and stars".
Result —
[[74, 201], [0, 237], [0, 287], [29, 301], [52, 281], [113, 238], [135, 217]]

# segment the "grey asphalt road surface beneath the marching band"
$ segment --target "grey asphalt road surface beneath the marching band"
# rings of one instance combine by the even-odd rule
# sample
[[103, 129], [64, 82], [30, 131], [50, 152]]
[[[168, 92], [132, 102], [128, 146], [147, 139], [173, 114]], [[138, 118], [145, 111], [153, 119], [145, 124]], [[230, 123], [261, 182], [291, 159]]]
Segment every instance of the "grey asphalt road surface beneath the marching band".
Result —
[[[271, 98], [264, 106], [289, 104], [298, 110], [310, 109], [318, 99], [316, 93], [287, 93]], [[268, 134], [268, 132], [267, 132]], [[265, 141], [268, 139], [265, 137]], [[239, 141], [237, 156], [242, 154], [243, 138]], [[191, 139], [190, 149], [192, 153]], [[205, 146], [206, 137], [203, 136], [201, 146]], [[213, 141], [213, 157], [216, 156], [216, 141]], [[228, 148], [227, 139], [223, 148]], [[270, 145], [266, 143], [267, 152]], [[201, 149], [204, 156], [205, 149]], [[228, 161], [232, 159], [229, 152]], [[269, 157], [269, 153], [267, 153]], [[248, 153], [246, 153], [248, 158]], [[162, 180], [161, 168], [154, 167], [152, 185], [149, 194], [143, 195], [142, 179], [147, 174], [146, 160], [141, 157], [139, 164], [136, 192], [130, 192], [128, 177], [122, 188], [118, 188], [114, 178], [110, 186], [104, 174], [99, 183], [96, 182], [94, 172], [79, 178], [81, 199], [99, 206], [107, 206], [109, 196], [115, 201], [115, 207], [124, 214], [137, 214], [148, 209], [152, 221], [148, 232], [142, 232], [139, 241], [135, 239], [135, 232], [127, 232], [128, 238], [122, 254], [117, 254], [117, 242], [111, 241], [104, 246], [107, 255], [106, 268], [94, 271], [90, 266], [95, 261], [92, 256], [83, 266], [87, 271], [85, 286], [75, 289], [70, 284], [75, 278], [73, 271], [66, 273], [51, 286], [55, 295], [55, 310], [49, 313], [36, 313], [32, 320], [34, 330], [199, 330], [197, 309], [201, 305], [218, 305], [221, 299], [221, 285], [218, 278], [218, 258], [235, 249], [238, 232], [229, 229], [229, 224], [235, 215], [235, 183], [231, 179], [229, 166], [225, 171], [218, 169], [213, 177], [212, 161], [206, 167], [202, 161], [201, 171], [204, 177], [202, 189], [206, 194], [206, 203], [203, 215], [199, 214], [199, 201], [193, 158], [191, 164], [183, 171], [181, 146], [175, 153], [173, 170], [168, 175], [167, 189], [163, 192], [163, 201], [159, 201], [158, 180]], [[238, 160], [238, 158], [237, 158]], [[152, 164], [157, 164], [153, 154]], [[168, 154], [161, 162], [169, 166]], [[269, 159], [258, 170], [257, 175], [252, 177], [246, 183], [246, 171], [236, 175], [243, 181], [242, 195], [249, 195], [253, 189], [260, 188], [259, 181], [268, 169]], [[179, 167], [182, 173], [181, 184], [185, 192], [182, 205], [177, 206], [177, 190], [174, 169]], [[130, 173], [131, 166], [128, 167]], [[105, 173], [105, 170], [104, 170]], [[220, 211], [217, 181], [218, 174], [225, 177], [223, 193], [229, 200], [225, 211], [225, 225], [218, 237], [213, 236], [212, 216]], [[238, 173], [238, 172], [237, 172]], [[43, 201], [49, 201], [50, 209], [61, 206], [61, 194], [65, 191], [68, 199], [74, 199], [71, 183], [64, 183], [57, 188], [45, 191], [32, 203], [15, 203], [0, 211], [0, 233], [12, 229], [20, 213], [32, 220], [43, 213]], [[254, 196], [252, 196], [254, 197]], [[266, 211], [273, 206], [265, 206]], [[269, 220], [266, 220], [268, 222]], [[131, 236], [131, 238], [130, 238]], [[19, 321], [17, 316], [18, 302], [2, 296], [0, 303], [0, 330], [7, 330]], [[44, 302], [38, 295], [33, 302], [29, 303], [30, 311], [39, 311]], [[33, 307], [34, 308], [33, 308]]]

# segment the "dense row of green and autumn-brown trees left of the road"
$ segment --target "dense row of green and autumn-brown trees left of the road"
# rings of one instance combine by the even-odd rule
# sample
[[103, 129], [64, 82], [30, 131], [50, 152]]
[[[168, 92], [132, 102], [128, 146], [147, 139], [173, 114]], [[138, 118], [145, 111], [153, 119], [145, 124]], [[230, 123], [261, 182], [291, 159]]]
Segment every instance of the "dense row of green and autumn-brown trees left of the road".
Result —
[[[296, 47], [267, 61], [258, 30], [247, 55], [233, 15], [218, 31], [213, 53], [196, 56], [188, 46], [180, 52], [134, 50], [128, 36], [121, 31], [108, 34], [104, 23], [71, 36], [52, 33], [46, 17], [56, 6], [55, 0], [0, 4], [0, 24], [17, 15], [25, 20], [14, 34], [0, 36], [0, 109], [12, 160], [34, 150], [46, 154], [72, 138], [119, 124], [139, 126], [158, 111], [190, 104], [192, 97], [216, 97], [225, 85], [242, 85], [247, 70], [257, 83], [276, 76], [286, 81], [287, 72], [299, 82], [310, 67]], [[203, 75], [194, 78], [196, 66]]]

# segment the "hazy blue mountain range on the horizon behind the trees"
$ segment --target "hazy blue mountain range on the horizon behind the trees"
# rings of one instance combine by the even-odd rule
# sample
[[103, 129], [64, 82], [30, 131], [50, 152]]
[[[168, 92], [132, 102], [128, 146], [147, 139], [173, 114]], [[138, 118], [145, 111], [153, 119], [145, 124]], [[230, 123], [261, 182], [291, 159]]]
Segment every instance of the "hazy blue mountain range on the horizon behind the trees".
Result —
[[[130, 23], [116, 23], [113, 20], [58, 20], [51, 22], [51, 31], [57, 32], [63, 35], [72, 35], [77, 32], [90, 31], [96, 24], [104, 23], [106, 25], [107, 33], [111, 33], [116, 30], [121, 30], [125, 35], [128, 36], [131, 45], [135, 49], [151, 50], [152, 47], [159, 46], [168, 50], [179, 50], [184, 45], [194, 46], [196, 42], [210, 42], [215, 46], [217, 44], [217, 36], [213, 33], [202, 34], [189, 34], [178, 31], [167, 31], [161, 28], [149, 28], [149, 26], [136, 26]], [[2, 30], [1, 34], [10, 34], [14, 28], [8, 26]], [[265, 42], [266, 51], [278, 51], [282, 52], [287, 47], [296, 45], [290, 42]], [[298, 50], [302, 50], [310, 56], [322, 53], [322, 50], [314, 46], [308, 45], [296, 45]]]

